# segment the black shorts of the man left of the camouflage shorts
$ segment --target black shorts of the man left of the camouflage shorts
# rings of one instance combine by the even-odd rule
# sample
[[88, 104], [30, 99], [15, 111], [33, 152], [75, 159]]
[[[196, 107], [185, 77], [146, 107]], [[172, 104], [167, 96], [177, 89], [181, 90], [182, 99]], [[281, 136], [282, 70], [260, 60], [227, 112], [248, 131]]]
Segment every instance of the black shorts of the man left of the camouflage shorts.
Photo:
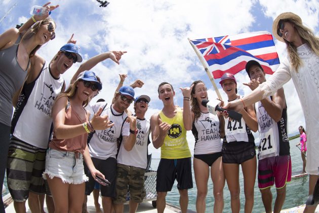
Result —
[[[105, 179], [111, 182], [110, 186], [102, 186], [100, 185], [101, 195], [104, 197], [112, 197], [115, 198], [116, 192], [116, 159], [115, 158], [107, 158], [106, 160], [101, 160], [97, 158], [92, 158], [93, 164], [97, 170], [104, 174]], [[85, 174], [88, 175], [89, 181], [85, 182], [85, 194], [90, 195], [94, 190], [95, 180], [91, 175], [91, 172], [87, 165], [84, 163], [84, 171]]]

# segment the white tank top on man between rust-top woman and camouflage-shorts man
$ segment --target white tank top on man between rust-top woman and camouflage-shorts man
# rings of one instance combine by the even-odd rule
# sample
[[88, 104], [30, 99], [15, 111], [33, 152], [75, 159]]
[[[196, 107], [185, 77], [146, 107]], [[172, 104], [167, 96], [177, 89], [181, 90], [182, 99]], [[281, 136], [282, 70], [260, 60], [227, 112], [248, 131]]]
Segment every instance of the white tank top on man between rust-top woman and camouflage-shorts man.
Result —
[[[96, 113], [99, 108], [103, 108], [105, 104], [106, 102], [97, 102], [92, 105], [92, 109]], [[124, 122], [128, 117], [125, 112], [116, 112], [112, 104], [110, 107], [106, 107], [103, 110], [101, 116], [103, 115], [108, 115], [108, 119], [110, 122], [114, 123], [114, 126], [104, 130], [96, 130], [89, 143], [91, 157], [101, 160], [105, 160], [109, 157], [116, 158], [117, 138], [121, 135], [121, 129], [123, 136], [128, 136], [130, 134], [130, 124]]]

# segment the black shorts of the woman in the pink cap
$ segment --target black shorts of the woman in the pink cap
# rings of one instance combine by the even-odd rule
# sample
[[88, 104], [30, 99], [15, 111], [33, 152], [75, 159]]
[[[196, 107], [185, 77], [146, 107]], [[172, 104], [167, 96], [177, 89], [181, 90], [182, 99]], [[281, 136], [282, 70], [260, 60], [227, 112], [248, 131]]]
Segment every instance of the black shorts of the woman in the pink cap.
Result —
[[255, 143], [245, 141], [223, 142], [223, 163], [242, 164], [256, 155]]

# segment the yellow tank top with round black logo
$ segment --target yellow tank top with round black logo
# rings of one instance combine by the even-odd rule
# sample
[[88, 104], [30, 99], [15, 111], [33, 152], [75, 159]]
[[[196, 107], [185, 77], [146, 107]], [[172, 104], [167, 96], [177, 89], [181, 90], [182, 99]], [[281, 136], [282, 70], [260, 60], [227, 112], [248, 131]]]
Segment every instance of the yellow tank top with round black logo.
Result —
[[183, 123], [183, 111], [178, 108], [173, 118], [166, 117], [161, 111], [160, 117], [163, 122], [172, 125], [161, 147], [161, 158], [180, 159], [191, 157], [186, 139], [186, 129]]

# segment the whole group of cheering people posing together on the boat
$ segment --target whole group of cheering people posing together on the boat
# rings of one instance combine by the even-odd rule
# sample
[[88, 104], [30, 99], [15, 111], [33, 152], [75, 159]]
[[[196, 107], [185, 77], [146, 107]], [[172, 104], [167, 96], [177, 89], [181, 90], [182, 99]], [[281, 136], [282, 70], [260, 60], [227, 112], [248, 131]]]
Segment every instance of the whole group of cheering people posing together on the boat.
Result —
[[[195, 139], [193, 168], [197, 187], [196, 211], [205, 212], [208, 179], [213, 181], [214, 212], [224, 209], [225, 181], [231, 196], [231, 211], [240, 211], [239, 166], [244, 176], [245, 212], [252, 212], [257, 171], [255, 138], [259, 131], [258, 187], [266, 212], [279, 212], [286, 197], [286, 183], [291, 180], [290, 146], [287, 132], [287, 105], [284, 89], [293, 78], [308, 127], [308, 159], [304, 170], [310, 174], [309, 194], [318, 178], [318, 144], [315, 140], [317, 114], [311, 107], [319, 102], [319, 40], [293, 13], [279, 15], [273, 23], [274, 36], [287, 44], [289, 60], [284, 61], [267, 81], [263, 65], [248, 61], [246, 72], [253, 92], [237, 94], [237, 82], [225, 73], [220, 84], [228, 102], [224, 109], [243, 115], [231, 119], [227, 111], [210, 114], [201, 103], [208, 99], [201, 80], [180, 88], [183, 108], [174, 103], [172, 84], [158, 85], [163, 109], [145, 118], [150, 97], [135, 95], [142, 87], [136, 80], [123, 85], [125, 75], [110, 104], [104, 100], [90, 103], [102, 89], [100, 78], [91, 71], [99, 62], [110, 58], [116, 63], [124, 51], [109, 51], [82, 63], [67, 89], [61, 77], [73, 63], [82, 62], [79, 47], [71, 39], [47, 62], [36, 51], [55, 38], [56, 23], [49, 11], [58, 6], [44, 5], [47, 13], [32, 16], [19, 29], [0, 35], [0, 185], [7, 169], [8, 188], [17, 212], [25, 212], [25, 202], [32, 212], [43, 209], [38, 195], [47, 194], [49, 212], [82, 212], [86, 196], [100, 185], [104, 212], [123, 212], [130, 192], [130, 212], [145, 197], [144, 173], [147, 146], [161, 148], [156, 176], [156, 206], [164, 212], [166, 195], [175, 180], [180, 193], [180, 208], [187, 211], [188, 189], [193, 187], [191, 152], [186, 132]], [[312, 92], [312, 93], [310, 93]], [[134, 102], [134, 103], [133, 103]], [[254, 105], [255, 102], [258, 102]], [[128, 109], [134, 104], [134, 112]], [[12, 112], [12, 106], [15, 108]], [[35, 136], [36, 135], [36, 136]], [[305, 150], [304, 150], [305, 152]], [[46, 180], [46, 181], [45, 181]], [[47, 183], [47, 184], [46, 184]], [[276, 187], [272, 208], [270, 187]], [[83, 207], [84, 206], [84, 207]], [[314, 212], [315, 205], [305, 212]], [[3, 202], [0, 211], [5, 212]]]

